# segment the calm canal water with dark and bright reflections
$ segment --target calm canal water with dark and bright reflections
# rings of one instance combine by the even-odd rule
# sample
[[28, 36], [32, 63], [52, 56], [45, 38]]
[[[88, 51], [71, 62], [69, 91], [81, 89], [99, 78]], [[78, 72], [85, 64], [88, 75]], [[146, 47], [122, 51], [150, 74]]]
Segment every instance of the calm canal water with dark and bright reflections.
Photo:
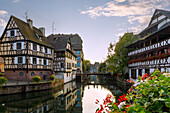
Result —
[[0, 113], [95, 113], [107, 94], [115, 98], [121, 91], [113, 80], [96, 75], [84, 83], [76, 81], [53, 90], [0, 96]]

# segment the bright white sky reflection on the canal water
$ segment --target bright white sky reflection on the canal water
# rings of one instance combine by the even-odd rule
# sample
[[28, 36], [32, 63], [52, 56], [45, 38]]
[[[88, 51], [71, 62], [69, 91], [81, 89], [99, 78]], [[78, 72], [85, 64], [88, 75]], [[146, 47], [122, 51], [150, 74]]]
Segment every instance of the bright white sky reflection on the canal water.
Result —
[[95, 104], [96, 99], [102, 103], [107, 94], [112, 95], [108, 89], [102, 87], [101, 85], [98, 85], [98, 87], [94, 87], [93, 85], [85, 86], [84, 96], [82, 99], [83, 113], [95, 113], [96, 109], [100, 106]]

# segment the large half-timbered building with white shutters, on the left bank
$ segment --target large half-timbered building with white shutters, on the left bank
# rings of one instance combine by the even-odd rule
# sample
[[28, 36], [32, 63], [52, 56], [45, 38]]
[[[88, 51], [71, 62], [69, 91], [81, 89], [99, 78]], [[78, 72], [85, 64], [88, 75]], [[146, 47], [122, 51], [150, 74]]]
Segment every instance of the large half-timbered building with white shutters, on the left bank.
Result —
[[9, 80], [27, 81], [35, 75], [48, 79], [52, 70], [53, 47], [45, 37], [45, 28], [33, 21], [11, 16], [0, 38], [0, 57]]

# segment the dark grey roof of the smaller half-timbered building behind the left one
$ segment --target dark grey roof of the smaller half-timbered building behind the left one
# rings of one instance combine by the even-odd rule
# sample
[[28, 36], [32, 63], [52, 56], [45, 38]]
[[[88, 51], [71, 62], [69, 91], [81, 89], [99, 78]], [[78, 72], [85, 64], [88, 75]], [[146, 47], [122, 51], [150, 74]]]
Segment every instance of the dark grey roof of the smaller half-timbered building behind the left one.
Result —
[[70, 42], [69, 37], [56, 37], [51, 34], [47, 37], [50, 44], [54, 47], [55, 51], [65, 51], [67, 49], [67, 43]]

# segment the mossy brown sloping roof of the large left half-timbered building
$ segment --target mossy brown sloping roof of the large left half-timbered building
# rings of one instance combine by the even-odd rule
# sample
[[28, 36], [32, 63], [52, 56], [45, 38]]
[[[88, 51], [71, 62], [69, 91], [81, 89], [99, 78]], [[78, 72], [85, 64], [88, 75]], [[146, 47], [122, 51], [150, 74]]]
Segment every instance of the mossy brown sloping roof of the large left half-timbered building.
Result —
[[[38, 28], [33, 26], [33, 29], [31, 29], [28, 23], [18, 19], [15, 16], [11, 16], [11, 18], [13, 18], [13, 20], [15, 21], [19, 30], [21, 31], [21, 33], [23, 34], [25, 38], [27, 38], [28, 40], [34, 41], [36, 43], [40, 43], [42, 45], [52, 47], [50, 43], [47, 41], [47, 38], [43, 36], [42, 32]], [[36, 33], [42, 37], [41, 40], [39, 39], [39, 37], [37, 37]]]

